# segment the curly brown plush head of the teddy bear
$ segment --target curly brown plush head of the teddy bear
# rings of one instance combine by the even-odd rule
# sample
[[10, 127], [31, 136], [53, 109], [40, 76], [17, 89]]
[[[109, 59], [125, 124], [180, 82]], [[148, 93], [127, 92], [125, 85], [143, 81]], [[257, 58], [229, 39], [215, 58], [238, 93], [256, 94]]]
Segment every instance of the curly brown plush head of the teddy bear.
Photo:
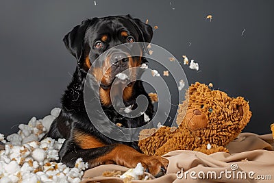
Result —
[[251, 118], [249, 104], [243, 97], [232, 98], [220, 90], [210, 90], [206, 84], [196, 82], [188, 89], [186, 101], [179, 111], [186, 110], [186, 116], [177, 123], [188, 128], [195, 136], [201, 136], [206, 143], [227, 145]]

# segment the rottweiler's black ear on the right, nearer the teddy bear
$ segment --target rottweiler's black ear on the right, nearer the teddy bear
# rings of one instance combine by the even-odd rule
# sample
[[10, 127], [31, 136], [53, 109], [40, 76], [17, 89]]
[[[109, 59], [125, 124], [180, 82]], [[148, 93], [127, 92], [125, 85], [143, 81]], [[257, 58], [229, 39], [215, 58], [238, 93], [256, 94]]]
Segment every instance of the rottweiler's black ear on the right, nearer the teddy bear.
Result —
[[143, 23], [140, 19], [134, 19], [134, 22], [138, 26], [138, 31], [141, 32], [143, 42], [151, 42], [153, 36], [153, 29], [150, 25]]

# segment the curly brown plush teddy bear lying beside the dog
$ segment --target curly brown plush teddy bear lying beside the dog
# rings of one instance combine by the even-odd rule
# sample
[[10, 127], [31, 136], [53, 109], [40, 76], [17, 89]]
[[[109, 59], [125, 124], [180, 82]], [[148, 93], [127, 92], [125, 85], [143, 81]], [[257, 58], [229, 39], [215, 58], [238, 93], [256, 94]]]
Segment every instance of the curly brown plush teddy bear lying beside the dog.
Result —
[[188, 93], [179, 104], [177, 129], [163, 126], [140, 132], [142, 140], [138, 145], [143, 153], [162, 156], [173, 150], [228, 152], [225, 145], [240, 134], [251, 118], [249, 103], [243, 97], [229, 97], [199, 82], [192, 84]]

